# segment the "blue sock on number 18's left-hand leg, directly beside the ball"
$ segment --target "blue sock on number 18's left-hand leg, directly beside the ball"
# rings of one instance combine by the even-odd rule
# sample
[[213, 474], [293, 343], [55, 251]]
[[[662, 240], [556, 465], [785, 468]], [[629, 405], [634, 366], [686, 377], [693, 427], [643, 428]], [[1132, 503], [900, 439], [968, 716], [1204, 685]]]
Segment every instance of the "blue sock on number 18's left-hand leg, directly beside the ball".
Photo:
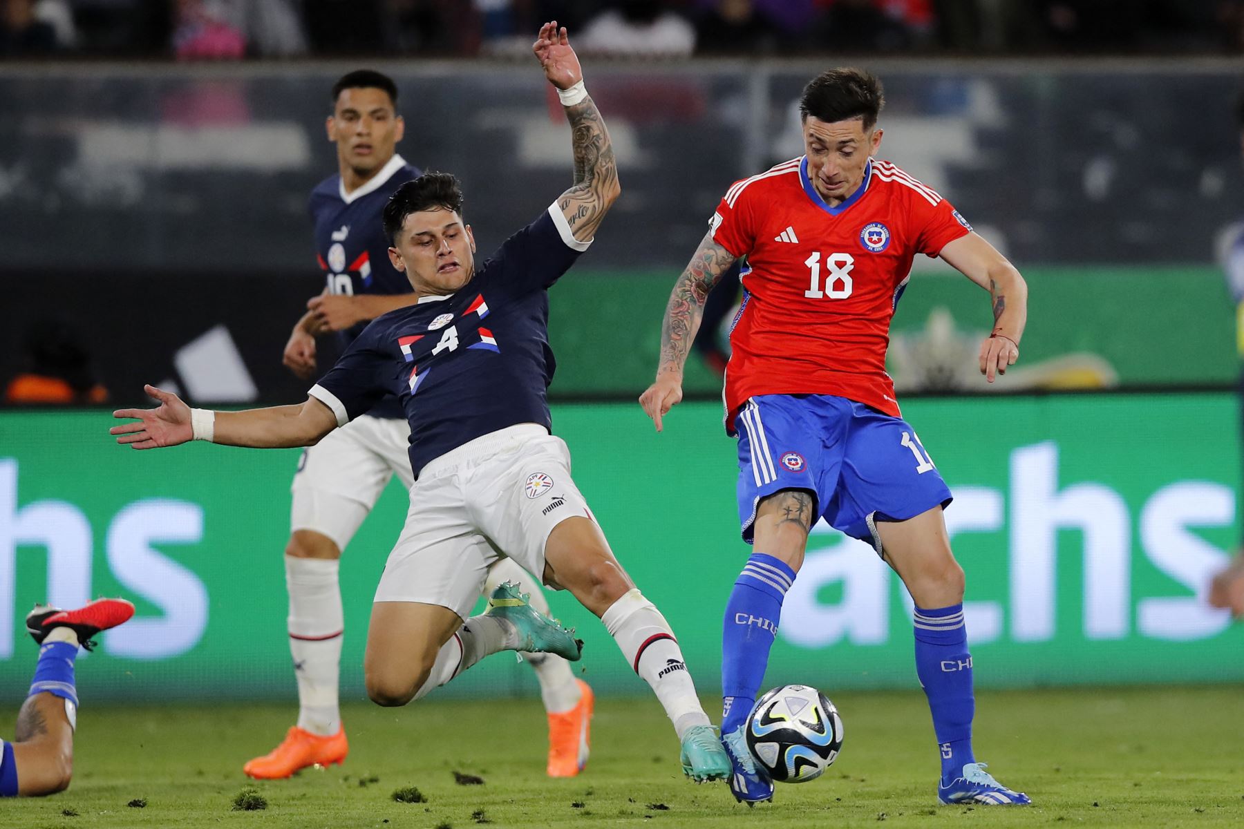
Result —
[[722, 628], [722, 733], [741, 726], [756, 702], [781, 603], [794, 582], [795, 570], [764, 553], [753, 553], [734, 582]]

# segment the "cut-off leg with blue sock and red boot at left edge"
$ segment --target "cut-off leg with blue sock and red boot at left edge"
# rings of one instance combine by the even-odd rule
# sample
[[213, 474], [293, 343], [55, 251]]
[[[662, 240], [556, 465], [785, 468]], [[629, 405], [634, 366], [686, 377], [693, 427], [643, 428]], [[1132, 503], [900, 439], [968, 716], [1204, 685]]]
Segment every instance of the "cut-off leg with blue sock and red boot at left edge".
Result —
[[95, 649], [92, 636], [134, 615], [124, 599], [96, 599], [76, 610], [36, 604], [26, 614], [26, 633], [39, 645], [30, 694], [17, 712], [16, 740], [0, 740], [0, 797], [56, 794], [73, 777], [73, 730], [78, 648]]

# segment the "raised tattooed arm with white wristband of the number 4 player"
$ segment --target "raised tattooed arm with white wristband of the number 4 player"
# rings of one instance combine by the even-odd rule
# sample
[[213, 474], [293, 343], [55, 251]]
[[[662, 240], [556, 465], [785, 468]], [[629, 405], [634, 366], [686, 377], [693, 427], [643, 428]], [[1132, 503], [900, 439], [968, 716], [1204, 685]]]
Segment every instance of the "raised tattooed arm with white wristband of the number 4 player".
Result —
[[531, 51], [540, 61], [545, 77], [557, 87], [566, 107], [566, 119], [570, 121], [575, 184], [561, 194], [557, 206], [575, 239], [591, 241], [605, 214], [622, 193], [610, 131], [605, 128], [601, 111], [583, 88], [583, 70], [570, 47], [566, 27], [559, 29], [556, 20], [541, 26]]

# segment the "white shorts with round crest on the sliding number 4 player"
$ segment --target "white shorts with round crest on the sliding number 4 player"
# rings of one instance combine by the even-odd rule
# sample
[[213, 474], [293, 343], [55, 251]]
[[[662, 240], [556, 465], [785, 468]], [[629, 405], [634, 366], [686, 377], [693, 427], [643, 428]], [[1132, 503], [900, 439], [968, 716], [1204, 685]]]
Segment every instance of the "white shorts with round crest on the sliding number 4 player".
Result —
[[549, 533], [575, 516], [592, 513], [561, 437], [536, 424], [476, 437], [419, 471], [376, 600], [435, 604], [465, 619], [501, 556], [542, 580]]

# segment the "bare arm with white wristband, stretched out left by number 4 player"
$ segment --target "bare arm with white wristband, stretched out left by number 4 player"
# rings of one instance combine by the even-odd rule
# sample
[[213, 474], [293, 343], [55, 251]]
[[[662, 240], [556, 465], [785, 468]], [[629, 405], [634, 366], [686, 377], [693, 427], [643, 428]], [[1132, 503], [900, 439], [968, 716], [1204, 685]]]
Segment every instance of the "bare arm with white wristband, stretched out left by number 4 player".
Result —
[[113, 418], [128, 419], [108, 430], [118, 444], [134, 449], [163, 449], [190, 440], [207, 440], [226, 446], [284, 449], [311, 446], [337, 428], [337, 416], [320, 400], [244, 411], [207, 411], [190, 409], [172, 392], [144, 385], [143, 390], [159, 400], [156, 409], [118, 409]]

